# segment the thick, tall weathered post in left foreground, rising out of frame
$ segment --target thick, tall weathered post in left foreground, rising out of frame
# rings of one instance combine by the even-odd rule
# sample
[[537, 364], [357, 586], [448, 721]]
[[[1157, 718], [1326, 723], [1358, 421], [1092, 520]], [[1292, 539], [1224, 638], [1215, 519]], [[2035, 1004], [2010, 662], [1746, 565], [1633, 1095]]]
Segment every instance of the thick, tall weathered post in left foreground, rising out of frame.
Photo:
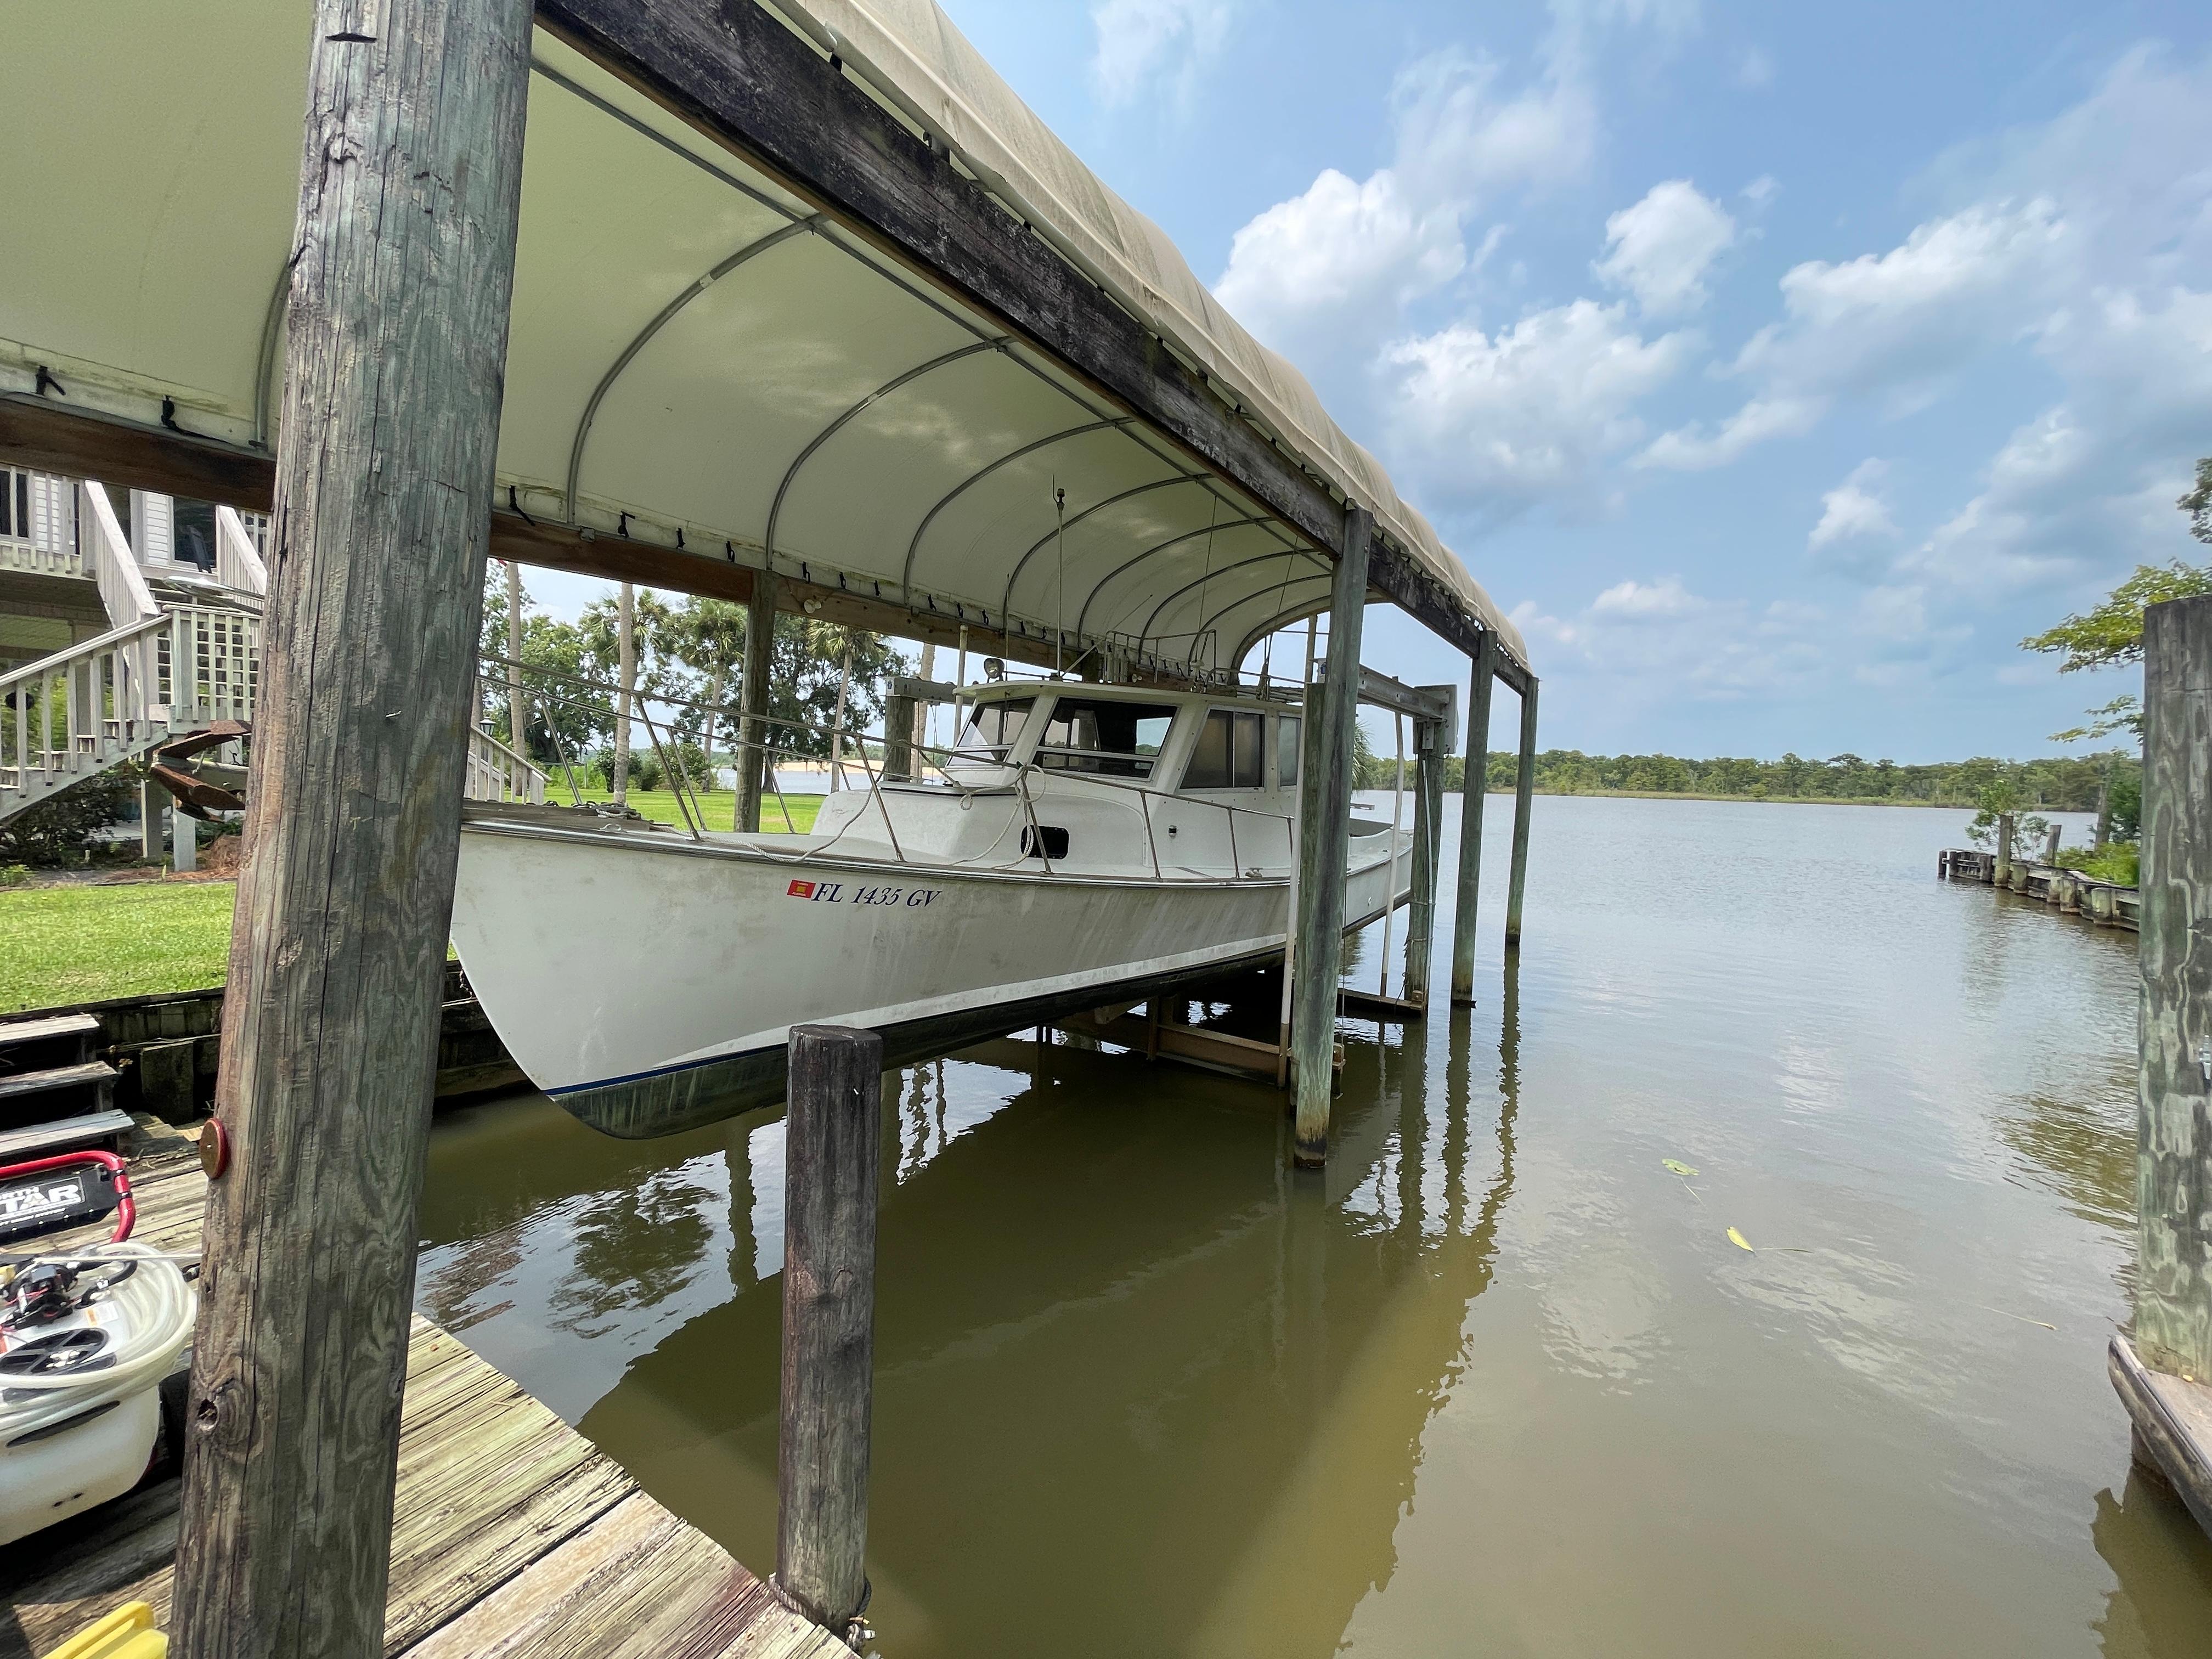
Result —
[[376, 1659], [529, 0], [319, 0], [170, 1632]]

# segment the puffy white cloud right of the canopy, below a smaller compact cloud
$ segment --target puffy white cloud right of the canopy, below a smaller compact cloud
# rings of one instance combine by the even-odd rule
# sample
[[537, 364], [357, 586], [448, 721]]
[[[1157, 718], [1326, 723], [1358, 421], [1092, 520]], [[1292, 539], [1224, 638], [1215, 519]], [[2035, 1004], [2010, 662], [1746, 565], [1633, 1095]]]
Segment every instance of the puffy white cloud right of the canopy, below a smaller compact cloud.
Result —
[[1577, 299], [1495, 334], [1475, 323], [1398, 341], [1389, 434], [1425, 493], [1504, 518], [1542, 495], [1588, 493], [1601, 462], [1644, 436], [1635, 407], [1697, 341], [1646, 341], [1621, 305]]

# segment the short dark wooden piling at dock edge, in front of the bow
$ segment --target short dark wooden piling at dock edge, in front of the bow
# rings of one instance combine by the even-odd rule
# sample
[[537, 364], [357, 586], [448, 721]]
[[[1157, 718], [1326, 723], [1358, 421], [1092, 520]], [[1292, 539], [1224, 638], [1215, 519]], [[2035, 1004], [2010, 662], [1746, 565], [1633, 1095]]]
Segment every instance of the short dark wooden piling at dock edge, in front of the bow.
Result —
[[867, 1604], [883, 1037], [792, 1026], [776, 1588], [845, 1635]]

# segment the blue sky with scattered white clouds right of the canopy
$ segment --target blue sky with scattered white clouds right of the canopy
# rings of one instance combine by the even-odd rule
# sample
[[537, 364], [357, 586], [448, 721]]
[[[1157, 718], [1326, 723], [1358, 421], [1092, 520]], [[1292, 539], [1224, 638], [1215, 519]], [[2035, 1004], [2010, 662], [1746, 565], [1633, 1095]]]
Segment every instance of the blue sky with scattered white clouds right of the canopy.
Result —
[[940, 4], [1515, 619], [1544, 748], [2057, 752], [2132, 679], [2020, 639], [2212, 557], [2208, 7]]

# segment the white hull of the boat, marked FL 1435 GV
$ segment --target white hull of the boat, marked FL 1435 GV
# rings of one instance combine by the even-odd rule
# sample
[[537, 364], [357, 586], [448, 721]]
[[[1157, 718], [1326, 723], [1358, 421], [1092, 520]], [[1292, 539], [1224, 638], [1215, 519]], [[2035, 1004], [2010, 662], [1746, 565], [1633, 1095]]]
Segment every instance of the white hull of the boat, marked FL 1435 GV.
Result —
[[[1383, 911], [1387, 836], [1347, 914]], [[1405, 858], [1398, 860], [1400, 887]], [[1287, 883], [796, 863], [737, 838], [471, 821], [453, 947], [515, 1064], [575, 1117], [670, 1135], [783, 1097], [807, 1022], [900, 1064], [1279, 958]]]

